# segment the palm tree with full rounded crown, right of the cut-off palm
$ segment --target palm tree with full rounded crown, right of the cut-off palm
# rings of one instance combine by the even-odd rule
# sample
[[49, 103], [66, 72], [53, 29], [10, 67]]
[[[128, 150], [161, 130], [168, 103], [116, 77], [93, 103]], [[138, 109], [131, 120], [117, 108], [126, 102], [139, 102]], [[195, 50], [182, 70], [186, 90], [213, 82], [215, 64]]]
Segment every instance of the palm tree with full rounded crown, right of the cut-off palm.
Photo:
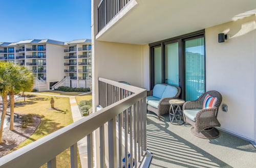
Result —
[[10, 97], [10, 130], [13, 130], [14, 126], [14, 95], [20, 92], [29, 92], [32, 90], [34, 85], [34, 76], [25, 67], [19, 67], [14, 64], [10, 64], [12, 71], [10, 73], [11, 87], [9, 90]]

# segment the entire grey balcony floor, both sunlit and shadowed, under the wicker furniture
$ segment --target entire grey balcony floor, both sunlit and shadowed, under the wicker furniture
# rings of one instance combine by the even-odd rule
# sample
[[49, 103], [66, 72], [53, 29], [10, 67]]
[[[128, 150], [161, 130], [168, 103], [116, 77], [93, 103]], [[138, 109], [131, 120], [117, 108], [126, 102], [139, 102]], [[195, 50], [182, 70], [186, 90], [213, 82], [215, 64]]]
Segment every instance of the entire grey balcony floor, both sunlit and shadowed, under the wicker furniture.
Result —
[[248, 141], [220, 131], [216, 139], [190, 133], [189, 124], [173, 125], [166, 114], [161, 121], [147, 114], [150, 167], [255, 167], [256, 149]]

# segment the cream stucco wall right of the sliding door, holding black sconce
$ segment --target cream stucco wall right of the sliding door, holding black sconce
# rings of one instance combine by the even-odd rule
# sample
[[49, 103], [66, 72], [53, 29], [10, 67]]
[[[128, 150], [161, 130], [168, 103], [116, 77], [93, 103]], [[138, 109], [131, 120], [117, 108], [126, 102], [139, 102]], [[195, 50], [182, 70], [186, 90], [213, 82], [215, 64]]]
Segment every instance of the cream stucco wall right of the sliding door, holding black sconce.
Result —
[[[206, 90], [217, 90], [228, 105], [220, 109], [221, 128], [256, 139], [255, 134], [255, 16], [205, 29]], [[218, 34], [229, 39], [218, 43]]]

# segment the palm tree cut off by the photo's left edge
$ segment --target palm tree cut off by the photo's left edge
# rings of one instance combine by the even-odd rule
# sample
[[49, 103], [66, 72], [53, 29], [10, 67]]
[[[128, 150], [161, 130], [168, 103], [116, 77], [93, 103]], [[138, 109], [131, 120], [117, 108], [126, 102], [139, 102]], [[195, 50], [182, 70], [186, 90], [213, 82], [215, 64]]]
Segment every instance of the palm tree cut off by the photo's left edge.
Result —
[[1, 124], [0, 124], [0, 143], [2, 143], [5, 115], [6, 115], [6, 110], [8, 106], [7, 94], [10, 89], [10, 82], [11, 82], [10, 78], [8, 77], [8, 73], [11, 71], [8, 64], [9, 63], [0, 62], [0, 94], [2, 96], [2, 102], [3, 102], [3, 111], [2, 111]]

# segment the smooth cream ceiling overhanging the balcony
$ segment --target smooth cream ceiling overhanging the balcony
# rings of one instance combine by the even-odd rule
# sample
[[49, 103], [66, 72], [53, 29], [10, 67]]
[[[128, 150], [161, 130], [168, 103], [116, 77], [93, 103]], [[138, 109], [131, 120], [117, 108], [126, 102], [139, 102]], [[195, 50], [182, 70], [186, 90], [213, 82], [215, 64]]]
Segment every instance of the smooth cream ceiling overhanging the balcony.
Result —
[[137, 0], [97, 40], [148, 44], [228, 21], [256, 8], [256, 0]]

